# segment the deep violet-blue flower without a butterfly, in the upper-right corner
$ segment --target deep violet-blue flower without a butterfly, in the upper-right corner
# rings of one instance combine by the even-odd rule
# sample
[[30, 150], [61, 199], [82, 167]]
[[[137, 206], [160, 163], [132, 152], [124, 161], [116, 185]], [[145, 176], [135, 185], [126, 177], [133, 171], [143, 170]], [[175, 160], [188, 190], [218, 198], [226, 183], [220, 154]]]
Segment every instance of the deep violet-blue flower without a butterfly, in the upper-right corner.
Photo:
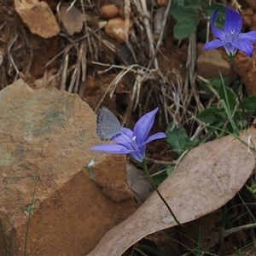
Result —
[[236, 50], [240, 49], [246, 55], [253, 56], [253, 43], [256, 43], [256, 31], [241, 33], [242, 19], [236, 11], [226, 7], [226, 20], [224, 23], [224, 31], [214, 26], [218, 9], [215, 9], [212, 15], [211, 27], [216, 38], [208, 42], [204, 46], [204, 50], [214, 49], [224, 46], [228, 55], [235, 55]]

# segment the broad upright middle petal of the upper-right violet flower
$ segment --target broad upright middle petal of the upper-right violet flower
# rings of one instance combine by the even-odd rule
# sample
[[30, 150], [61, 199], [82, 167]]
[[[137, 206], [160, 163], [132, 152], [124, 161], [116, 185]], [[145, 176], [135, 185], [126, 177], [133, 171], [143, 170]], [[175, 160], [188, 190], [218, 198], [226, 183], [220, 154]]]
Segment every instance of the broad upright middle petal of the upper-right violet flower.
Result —
[[230, 7], [227, 5], [224, 32], [226, 34], [238, 34], [241, 32], [241, 26], [241, 15], [239, 15], [236, 11], [230, 9]]

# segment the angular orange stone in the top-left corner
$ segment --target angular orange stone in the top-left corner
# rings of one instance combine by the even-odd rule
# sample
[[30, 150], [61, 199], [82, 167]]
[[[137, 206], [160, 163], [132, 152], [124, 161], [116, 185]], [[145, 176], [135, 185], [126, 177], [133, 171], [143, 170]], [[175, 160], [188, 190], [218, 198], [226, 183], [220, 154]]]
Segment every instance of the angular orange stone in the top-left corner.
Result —
[[42, 38], [52, 38], [60, 32], [60, 26], [44, 1], [15, 0], [15, 10], [30, 32]]

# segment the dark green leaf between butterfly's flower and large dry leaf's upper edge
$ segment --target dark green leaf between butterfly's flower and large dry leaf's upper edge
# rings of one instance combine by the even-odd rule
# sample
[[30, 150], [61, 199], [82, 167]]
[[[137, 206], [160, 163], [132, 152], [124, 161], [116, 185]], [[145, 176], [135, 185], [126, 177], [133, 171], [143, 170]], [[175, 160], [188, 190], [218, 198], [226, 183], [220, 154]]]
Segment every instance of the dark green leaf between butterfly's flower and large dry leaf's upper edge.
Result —
[[185, 150], [194, 148], [199, 142], [198, 140], [190, 140], [187, 135], [187, 131], [183, 126], [177, 126], [172, 128], [172, 123], [167, 126], [166, 137], [167, 143], [172, 146], [172, 151], [177, 154], [182, 154]]

